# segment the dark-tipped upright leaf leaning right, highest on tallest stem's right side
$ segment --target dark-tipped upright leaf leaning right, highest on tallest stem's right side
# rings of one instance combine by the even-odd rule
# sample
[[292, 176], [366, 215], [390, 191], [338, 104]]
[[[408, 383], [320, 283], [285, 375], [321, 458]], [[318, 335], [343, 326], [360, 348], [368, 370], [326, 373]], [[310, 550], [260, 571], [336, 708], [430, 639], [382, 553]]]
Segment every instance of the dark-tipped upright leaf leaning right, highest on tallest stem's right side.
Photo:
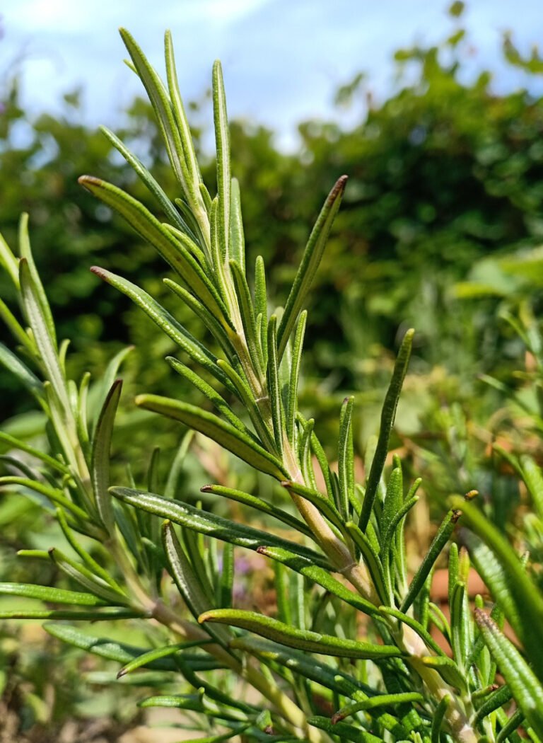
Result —
[[346, 182], [347, 176], [342, 175], [334, 185], [334, 188], [328, 194], [328, 198], [326, 199], [319, 217], [316, 220], [315, 226], [309, 236], [308, 244], [305, 246], [302, 262], [300, 263], [292, 288], [290, 289], [287, 303], [284, 307], [283, 317], [279, 323], [279, 329], [277, 331], [277, 358], [279, 362], [282, 360], [284, 349], [287, 348], [288, 339], [290, 338], [290, 333], [298, 319], [299, 312], [305, 302], [305, 297], [308, 295], [308, 291], [310, 290], [313, 276], [315, 276], [316, 270], [319, 267], [322, 254], [326, 247], [326, 241], [328, 240], [328, 235], [337, 210], [339, 210], [339, 204], [341, 203], [341, 198], [345, 191]]

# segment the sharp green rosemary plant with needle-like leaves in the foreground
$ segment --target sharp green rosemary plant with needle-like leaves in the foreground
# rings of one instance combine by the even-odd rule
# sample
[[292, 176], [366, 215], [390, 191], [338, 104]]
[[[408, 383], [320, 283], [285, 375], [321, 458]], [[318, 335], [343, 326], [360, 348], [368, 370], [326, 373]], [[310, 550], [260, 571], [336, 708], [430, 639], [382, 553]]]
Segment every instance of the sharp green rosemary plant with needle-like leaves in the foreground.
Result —
[[[211, 438], [274, 478], [289, 500], [278, 505], [259, 493], [224, 485], [202, 488], [217, 500], [263, 513], [276, 524], [269, 531], [187, 502], [175, 477], [186, 445], [166, 484], [152, 478], [149, 490], [156, 493], [132, 482], [109, 487], [111, 434], [121, 393], [116, 377], [126, 351], [111, 361], [94, 389], [88, 374], [79, 384], [67, 377], [68, 344], [57, 342], [23, 217], [19, 257], [4, 241], [0, 244], [22, 323], [3, 302], [0, 314], [20, 353], [1, 347], [0, 360], [45, 412], [48, 448], [0, 432], [4, 448], [12, 450], [4, 457], [11, 473], [0, 482], [4, 490], [37, 494], [58, 519], [70, 554], [58, 548], [21, 554], [53, 560], [77, 590], [4, 583], [2, 593], [47, 606], [2, 616], [56, 620], [45, 624], [51, 635], [117, 661], [118, 683], [135, 678], [152, 687], [143, 707], [178, 707], [192, 719], [195, 715], [206, 741], [241, 736], [272, 742], [499, 743], [518, 741], [519, 726], [534, 741], [543, 739], [543, 597], [524, 562], [469, 496], [451, 498], [417, 571], [408, 573], [404, 525], [417, 504], [420, 481], [406, 484], [400, 459], [394, 457], [391, 468], [386, 459], [413, 331], [400, 346], [380, 432], [367, 455], [365, 483], [354, 478], [353, 398], [345, 399], [339, 412], [336, 469], [313, 419], [298, 409], [304, 302], [346, 178], [339, 178], [322, 207], [284, 309], [270, 314], [260, 257], [254, 273], [247, 273], [221, 65], [216, 62], [212, 74], [217, 152], [212, 197], [195, 157], [169, 33], [166, 84], [130, 34], [121, 30], [121, 35], [129, 67], [155, 109], [178, 198], [172, 201], [107, 129], [105, 136], [134, 168], [163, 216], [157, 218], [100, 178], [84, 175], [80, 182], [155, 247], [171, 269], [164, 283], [221, 349], [220, 357], [213, 354], [129, 279], [94, 267], [97, 276], [125, 293], [175, 342], [179, 357], [168, 357], [168, 363], [205, 395], [213, 412], [157, 395], [140, 395], [136, 404]], [[534, 497], [539, 503], [539, 486]], [[432, 571], [461, 512], [470, 528], [465, 542], [472, 562], [495, 604], [489, 613], [477, 597], [473, 618], [466, 588], [470, 559], [452, 542], [449, 620], [432, 603]], [[288, 535], [282, 531], [285, 525]], [[241, 550], [256, 551], [273, 565], [276, 616], [234, 606], [235, 557]], [[502, 634], [504, 617], [524, 650]], [[74, 624], [100, 620], [145, 624], [149, 645], [129, 646]], [[252, 687], [250, 695], [240, 694], [240, 681], [244, 690]], [[508, 716], [512, 699], [516, 707]]]

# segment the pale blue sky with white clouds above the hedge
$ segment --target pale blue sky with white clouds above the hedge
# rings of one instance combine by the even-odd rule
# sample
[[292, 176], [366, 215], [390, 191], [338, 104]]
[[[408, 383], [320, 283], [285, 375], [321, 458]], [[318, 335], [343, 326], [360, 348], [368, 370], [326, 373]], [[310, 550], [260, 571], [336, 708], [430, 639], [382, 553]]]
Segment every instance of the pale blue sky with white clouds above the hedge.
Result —
[[[124, 25], [158, 68], [163, 30], [175, 41], [186, 100], [209, 86], [215, 58], [224, 65], [231, 117], [276, 129], [296, 146], [296, 123], [334, 116], [334, 91], [365, 71], [378, 97], [394, 85], [391, 53], [433, 42], [454, 28], [440, 0], [4, 0], [0, 74], [18, 69], [25, 105], [58, 111], [62, 93], [81, 85], [88, 123], [115, 126], [139, 91], [123, 65]], [[473, 70], [496, 70], [502, 88], [524, 85], [499, 63], [510, 29], [525, 52], [543, 38], [538, 0], [471, 0], [464, 22]], [[348, 114], [345, 123], [348, 123]], [[352, 114], [351, 114], [352, 115]]]

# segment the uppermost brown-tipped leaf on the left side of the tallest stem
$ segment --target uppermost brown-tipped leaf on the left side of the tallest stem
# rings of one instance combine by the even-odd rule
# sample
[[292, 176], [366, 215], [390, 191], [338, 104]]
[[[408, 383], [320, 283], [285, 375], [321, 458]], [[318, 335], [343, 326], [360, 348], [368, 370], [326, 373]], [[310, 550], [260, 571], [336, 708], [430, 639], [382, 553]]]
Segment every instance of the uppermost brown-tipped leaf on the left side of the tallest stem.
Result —
[[180, 233], [179, 239], [175, 239], [140, 201], [117, 186], [91, 175], [82, 175], [79, 183], [108, 207], [119, 212], [143, 239], [149, 241], [221, 325], [231, 325], [223, 300], [187, 247], [190, 243], [188, 236]]

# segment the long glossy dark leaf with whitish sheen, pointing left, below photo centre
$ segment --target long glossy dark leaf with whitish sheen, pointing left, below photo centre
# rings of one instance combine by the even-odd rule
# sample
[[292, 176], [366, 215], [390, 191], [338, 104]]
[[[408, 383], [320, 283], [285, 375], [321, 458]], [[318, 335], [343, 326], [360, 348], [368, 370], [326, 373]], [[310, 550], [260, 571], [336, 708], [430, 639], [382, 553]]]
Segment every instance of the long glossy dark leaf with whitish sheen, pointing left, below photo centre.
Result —
[[290, 552], [300, 554], [322, 568], [331, 569], [328, 560], [316, 551], [296, 545], [287, 539], [281, 539], [274, 534], [223, 519], [221, 516], [207, 513], [188, 503], [168, 501], [154, 493], [145, 493], [143, 490], [133, 490], [129, 487], [112, 487], [110, 492], [125, 503], [141, 508], [148, 513], [154, 513], [155, 516], [161, 516], [163, 519], [169, 519], [175, 524], [192, 529], [192, 531], [221, 539], [223, 542], [231, 542], [233, 545], [250, 550], [257, 550], [262, 545], [282, 547]]

